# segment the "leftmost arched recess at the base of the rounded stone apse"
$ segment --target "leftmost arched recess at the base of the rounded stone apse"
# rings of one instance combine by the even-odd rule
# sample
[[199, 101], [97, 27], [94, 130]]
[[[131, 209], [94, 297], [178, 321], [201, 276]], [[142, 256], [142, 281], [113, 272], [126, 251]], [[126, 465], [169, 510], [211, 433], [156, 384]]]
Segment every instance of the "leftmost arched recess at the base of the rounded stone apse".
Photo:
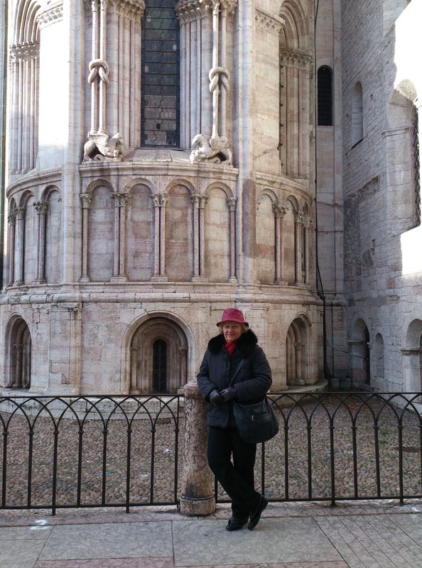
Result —
[[26, 322], [18, 317], [9, 336], [9, 386], [31, 387], [31, 334]]

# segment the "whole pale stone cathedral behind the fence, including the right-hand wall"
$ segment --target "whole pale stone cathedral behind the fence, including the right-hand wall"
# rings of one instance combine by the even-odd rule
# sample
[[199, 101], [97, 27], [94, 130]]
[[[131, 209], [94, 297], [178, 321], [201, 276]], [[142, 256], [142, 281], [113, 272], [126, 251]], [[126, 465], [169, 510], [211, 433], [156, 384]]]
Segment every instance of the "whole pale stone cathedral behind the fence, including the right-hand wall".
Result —
[[0, 386], [421, 389], [418, 0], [3, 0]]

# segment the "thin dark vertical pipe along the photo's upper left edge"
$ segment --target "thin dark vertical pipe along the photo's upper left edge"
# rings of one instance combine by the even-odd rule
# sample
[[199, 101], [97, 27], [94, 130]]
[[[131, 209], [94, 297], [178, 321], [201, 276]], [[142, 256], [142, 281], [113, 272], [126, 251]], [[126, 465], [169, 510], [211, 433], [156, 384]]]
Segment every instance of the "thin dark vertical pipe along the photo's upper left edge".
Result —
[[4, 192], [6, 191], [6, 70], [7, 70], [7, 0], [1, 2], [0, 38], [3, 58], [0, 61], [0, 290], [4, 275]]

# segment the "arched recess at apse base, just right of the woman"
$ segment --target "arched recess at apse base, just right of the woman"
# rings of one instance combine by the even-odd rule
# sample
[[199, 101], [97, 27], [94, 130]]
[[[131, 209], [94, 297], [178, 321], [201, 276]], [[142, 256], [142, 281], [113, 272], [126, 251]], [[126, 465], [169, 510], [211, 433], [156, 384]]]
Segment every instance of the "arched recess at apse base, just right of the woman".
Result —
[[308, 384], [308, 327], [300, 317], [293, 320], [286, 336], [286, 384]]

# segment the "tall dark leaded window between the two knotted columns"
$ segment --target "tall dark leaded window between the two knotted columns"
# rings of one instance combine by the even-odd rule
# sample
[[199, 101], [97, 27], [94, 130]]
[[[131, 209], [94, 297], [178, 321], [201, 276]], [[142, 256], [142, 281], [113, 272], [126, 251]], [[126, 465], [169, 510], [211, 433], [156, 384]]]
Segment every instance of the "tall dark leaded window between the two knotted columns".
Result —
[[179, 26], [174, 0], [148, 0], [142, 23], [142, 146], [179, 146]]

